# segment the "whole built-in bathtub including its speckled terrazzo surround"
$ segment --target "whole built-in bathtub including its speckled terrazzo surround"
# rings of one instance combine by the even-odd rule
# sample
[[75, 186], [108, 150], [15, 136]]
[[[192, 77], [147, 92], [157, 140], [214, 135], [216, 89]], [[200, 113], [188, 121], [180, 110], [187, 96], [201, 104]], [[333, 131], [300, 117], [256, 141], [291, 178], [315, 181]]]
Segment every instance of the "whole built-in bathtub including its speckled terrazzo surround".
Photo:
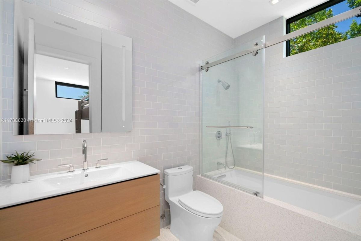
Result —
[[261, 176], [242, 170], [198, 175], [196, 189], [222, 203], [219, 226], [243, 241], [361, 241], [359, 196], [280, 179], [265, 176], [263, 198], [234, 188], [261, 190]]

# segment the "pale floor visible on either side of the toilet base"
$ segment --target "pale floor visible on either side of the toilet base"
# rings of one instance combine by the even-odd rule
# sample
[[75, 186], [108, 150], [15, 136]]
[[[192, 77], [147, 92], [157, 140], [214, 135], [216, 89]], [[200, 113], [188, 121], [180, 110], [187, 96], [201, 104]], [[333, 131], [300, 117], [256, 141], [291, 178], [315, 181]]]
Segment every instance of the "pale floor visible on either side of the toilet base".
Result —
[[[179, 241], [171, 232], [170, 228], [165, 227], [160, 229], [160, 236], [151, 241]], [[242, 241], [239, 238], [231, 235], [229, 232], [221, 227], [218, 227], [213, 235], [213, 241]]]

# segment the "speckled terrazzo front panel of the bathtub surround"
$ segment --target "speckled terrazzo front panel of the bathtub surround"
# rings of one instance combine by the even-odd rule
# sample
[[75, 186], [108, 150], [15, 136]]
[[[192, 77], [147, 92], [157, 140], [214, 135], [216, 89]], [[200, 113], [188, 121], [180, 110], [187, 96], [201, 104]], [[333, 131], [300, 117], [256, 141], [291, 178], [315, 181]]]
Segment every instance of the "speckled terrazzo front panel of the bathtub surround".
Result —
[[244, 241], [361, 241], [359, 225], [336, 227], [200, 175], [196, 187], [222, 203], [219, 225]]

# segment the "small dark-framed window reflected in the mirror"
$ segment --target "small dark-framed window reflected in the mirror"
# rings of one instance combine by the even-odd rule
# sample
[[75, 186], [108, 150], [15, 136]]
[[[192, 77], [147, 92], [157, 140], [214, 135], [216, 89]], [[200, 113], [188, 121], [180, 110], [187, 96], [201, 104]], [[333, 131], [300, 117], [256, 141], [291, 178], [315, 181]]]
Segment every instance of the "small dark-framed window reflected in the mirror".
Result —
[[[81, 100], [82, 98], [89, 95], [88, 86], [80, 86], [77, 84], [69, 84], [62, 82], [55, 82], [55, 97], [66, 98], [73, 100]], [[85, 100], [88, 100], [87, 97]]]

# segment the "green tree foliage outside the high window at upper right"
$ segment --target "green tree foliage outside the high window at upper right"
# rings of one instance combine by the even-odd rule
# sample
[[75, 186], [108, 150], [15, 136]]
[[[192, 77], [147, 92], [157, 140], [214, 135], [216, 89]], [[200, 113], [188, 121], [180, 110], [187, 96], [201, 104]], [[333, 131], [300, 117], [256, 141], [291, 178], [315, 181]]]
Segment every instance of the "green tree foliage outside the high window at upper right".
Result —
[[[361, 6], [361, 0], [347, 0], [349, 8]], [[332, 9], [324, 9], [311, 14], [305, 18], [290, 24], [290, 32], [302, 29], [314, 23], [333, 17]], [[338, 43], [351, 38], [361, 36], [361, 23], [358, 24], [355, 19], [352, 20], [349, 30], [344, 34], [336, 30], [337, 26], [332, 24], [314, 32], [299, 36], [290, 40], [290, 55], [309, 51], [329, 44]]]

